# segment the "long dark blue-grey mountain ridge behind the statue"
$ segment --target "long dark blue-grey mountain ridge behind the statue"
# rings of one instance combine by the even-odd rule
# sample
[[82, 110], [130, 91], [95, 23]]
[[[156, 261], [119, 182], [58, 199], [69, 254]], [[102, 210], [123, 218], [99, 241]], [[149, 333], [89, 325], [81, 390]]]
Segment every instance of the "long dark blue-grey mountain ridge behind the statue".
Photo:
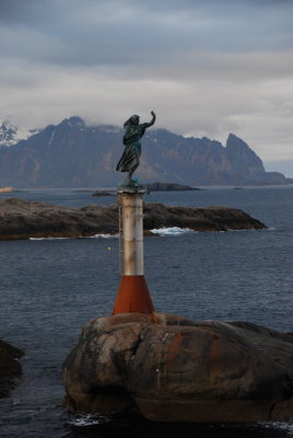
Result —
[[[86, 125], [79, 116], [48, 125], [27, 139], [0, 148], [0, 186], [94, 187], [124, 180], [115, 172], [124, 151], [124, 130], [113, 125]], [[230, 134], [224, 147], [207, 137], [183, 137], [150, 129], [142, 138], [143, 183], [189, 185], [290, 184], [278, 172], [266, 172], [249, 146]]]

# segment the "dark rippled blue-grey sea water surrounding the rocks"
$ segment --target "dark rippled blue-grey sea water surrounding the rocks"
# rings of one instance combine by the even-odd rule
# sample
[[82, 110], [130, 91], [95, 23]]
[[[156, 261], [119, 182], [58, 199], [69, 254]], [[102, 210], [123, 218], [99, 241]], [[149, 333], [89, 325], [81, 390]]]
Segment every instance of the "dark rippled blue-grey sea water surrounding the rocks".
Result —
[[[89, 193], [16, 196], [72, 207], [113, 204]], [[145, 238], [156, 311], [192, 320], [245, 320], [293, 332], [293, 187], [156, 193], [148, 201], [241, 208], [269, 229]], [[82, 325], [109, 314], [119, 285], [118, 239], [0, 242], [0, 337], [25, 351], [23, 378], [0, 400], [0, 437], [293, 437], [293, 423], [164, 425], [137, 417], [74, 416], [60, 405], [61, 364]]]

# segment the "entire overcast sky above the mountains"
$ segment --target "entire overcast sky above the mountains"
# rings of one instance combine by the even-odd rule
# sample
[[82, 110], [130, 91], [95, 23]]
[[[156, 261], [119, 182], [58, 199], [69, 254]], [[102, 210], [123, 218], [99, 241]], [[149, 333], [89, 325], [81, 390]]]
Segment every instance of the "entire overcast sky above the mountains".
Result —
[[0, 119], [153, 110], [156, 127], [233, 132], [293, 176], [293, 0], [0, 0]]

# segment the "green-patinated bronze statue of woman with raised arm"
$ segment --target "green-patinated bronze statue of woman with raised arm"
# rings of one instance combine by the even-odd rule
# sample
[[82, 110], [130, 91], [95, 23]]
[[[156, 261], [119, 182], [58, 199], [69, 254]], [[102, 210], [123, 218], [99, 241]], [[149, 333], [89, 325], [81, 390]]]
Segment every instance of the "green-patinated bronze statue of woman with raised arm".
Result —
[[145, 132], [145, 129], [152, 126], [155, 122], [155, 114], [153, 111], [151, 112], [151, 115], [153, 118], [150, 123], [140, 124], [139, 116], [134, 114], [124, 124], [124, 145], [126, 148], [116, 168], [116, 171], [118, 172], [128, 172], [127, 177], [121, 184], [124, 186], [136, 184], [131, 176], [139, 166], [139, 158], [141, 153], [140, 139]]

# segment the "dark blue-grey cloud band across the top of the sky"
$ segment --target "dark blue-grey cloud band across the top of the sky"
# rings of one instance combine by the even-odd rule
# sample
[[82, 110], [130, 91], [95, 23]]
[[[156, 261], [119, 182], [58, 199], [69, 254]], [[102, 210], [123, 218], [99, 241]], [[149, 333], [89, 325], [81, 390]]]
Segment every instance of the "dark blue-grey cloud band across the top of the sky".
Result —
[[95, 66], [171, 58], [178, 64], [183, 53], [188, 58], [198, 50], [289, 49], [292, 3], [277, 9], [270, 1], [271, 8], [261, 9], [265, 3], [2, 0], [1, 20], [14, 25], [2, 31], [10, 36], [1, 38], [1, 53], [33, 62]]

